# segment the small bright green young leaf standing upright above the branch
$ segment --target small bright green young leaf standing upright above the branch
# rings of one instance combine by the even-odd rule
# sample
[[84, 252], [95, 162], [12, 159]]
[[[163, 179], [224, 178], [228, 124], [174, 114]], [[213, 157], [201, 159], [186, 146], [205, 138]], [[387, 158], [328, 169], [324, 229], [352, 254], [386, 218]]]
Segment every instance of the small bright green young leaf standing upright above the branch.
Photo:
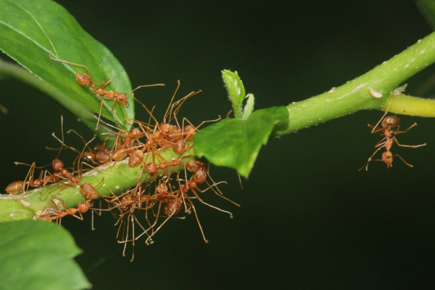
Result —
[[223, 70], [222, 79], [224, 80], [225, 88], [227, 89], [228, 96], [233, 105], [234, 116], [241, 119], [242, 103], [245, 99], [245, 87], [243, 87], [243, 82], [238, 76], [237, 71]]

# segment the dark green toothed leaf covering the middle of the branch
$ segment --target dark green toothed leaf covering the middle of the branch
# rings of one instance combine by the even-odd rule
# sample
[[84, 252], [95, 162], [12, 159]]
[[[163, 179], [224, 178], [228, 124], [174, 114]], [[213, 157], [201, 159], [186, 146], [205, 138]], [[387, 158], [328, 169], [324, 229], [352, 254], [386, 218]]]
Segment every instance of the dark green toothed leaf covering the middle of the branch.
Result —
[[248, 178], [262, 144], [288, 122], [286, 107], [257, 110], [246, 120], [224, 119], [195, 134], [195, 154]]

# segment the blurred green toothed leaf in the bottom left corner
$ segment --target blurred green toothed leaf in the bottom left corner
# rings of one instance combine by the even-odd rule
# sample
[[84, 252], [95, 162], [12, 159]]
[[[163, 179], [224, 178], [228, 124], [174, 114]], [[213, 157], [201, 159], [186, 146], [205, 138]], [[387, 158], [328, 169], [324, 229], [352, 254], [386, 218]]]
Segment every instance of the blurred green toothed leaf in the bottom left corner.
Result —
[[2, 289], [90, 288], [73, 257], [81, 253], [62, 227], [42, 221], [0, 224]]

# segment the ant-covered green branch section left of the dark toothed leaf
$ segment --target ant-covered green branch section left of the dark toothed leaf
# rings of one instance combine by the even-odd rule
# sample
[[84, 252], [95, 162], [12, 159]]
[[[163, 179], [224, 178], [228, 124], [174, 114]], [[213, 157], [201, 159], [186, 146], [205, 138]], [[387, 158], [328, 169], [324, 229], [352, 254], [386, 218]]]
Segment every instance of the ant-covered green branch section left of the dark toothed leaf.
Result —
[[[172, 150], [172, 147], [159, 151], [162, 160], [180, 159], [187, 163], [194, 158], [193, 147], [183, 154], [178, 155]], [[159, 161], [154, 160], [157, 164]], [[160, 159], [160, 158], [159, 158]], [[144, 162], [147, 164], [153, 162], [153, 154], [145, 154]], [[96, 169], [83, 173], [81, 184], [91, 183], [101, 196], [109, 196], [123, 193], [137, 184], [157, 180], [161, 176], [168, 175], [171, 172], [177, 172], [179, 167], [168, 167], [160, 169], [156, 175], [150, 175], [146, 172], [141, 173], [141, 167], [129, 167], [128, 158], [122, 161], [110, 162]], [[184, 174], [182, 175], [184, 176]], [[140, 181], [138, 181], [140, 179]], [[154, 193], [154, 192], [153, 192]], [[84, 200], [80, 193], [80, 188], [75, 187], [71, 182], [57, 182], [40, 187], [34, 190], [29, 190], [26, 194], [19, 195], [0, 195], [0, 222], [10, 220], [32, 219], [35, 214], [41, 214], [47, 206], [52, 206], [52, 199], [58, 201], [63, 200], [67, 208], [77, 206]], [[59, 207], [62, 208], [61, 202]]]

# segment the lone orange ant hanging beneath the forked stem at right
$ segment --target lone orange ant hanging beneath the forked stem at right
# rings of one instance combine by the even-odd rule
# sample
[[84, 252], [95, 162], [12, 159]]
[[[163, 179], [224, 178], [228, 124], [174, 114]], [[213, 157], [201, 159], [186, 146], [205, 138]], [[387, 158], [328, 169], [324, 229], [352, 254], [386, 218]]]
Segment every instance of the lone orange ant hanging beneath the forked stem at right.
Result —
[[[402, 86], [403, 90], [406, 86]], [[399, 87], [396, 90], [401, 89], [401, 87]], [[394, 95], [400, 94], [400, 92], [395, 92], [392, 94], [392, 99]], [[361, 167], [358, 171], [360, 171], [361, 169], [363, 169], [365, 167], [365, 170], [368, 170], [368, 163], [370, 163], [371, 161], [384, 161], [385, 164], [387, 165], [387, 168], [392, 168], [393, 167], [393, 156], [397, 156], [399, 157], [406, 165], [408, 165], [409, 167], [414, 167], [412, 164], [409, 164], [408, 162], [406, 162], [402, 156], [400, 156], [399, 154], [393, 154], [390, 149], [393, 147], [393, 142], [396, 143], [398, 146], [400, 147], [407, 147], [407, 148], [418, 148], [418, 147], [422, 147], [422, 146], [426, 146], [426, 143], [424, 144], [419, 144], [419, 145], [404, 145], [399, 143], [399, 141], [396, 139], [396, 135], [397, 134], [403, 134], [408, 132], [409, 129], [417, 126], [417, 123], [412, 124], [411, 126], [408, 127], [408, 129], [404, 130], [404, 131], [400, 131], [400, 126], [399, 126], [399, 117], [397, 116], [386, 116], [386, 114], [388, 113], [388, 109], [391, 105], [391, 101], [388, 104], [387, 109], [385, 110], [385, 113], [382, 115], [382, 117], [379, 119], [379, 121], [376, 123], [376, 126], [367, 124], [368, 127], [372, 128], [372, 134], [374, 133], [378, 133], [380, 135], [384, 135], [384, 137], [375, 144], [375, 148], [377, 148], [375, 150], [375, 152], [373, 152], [372, 156], [370, 156], [367, 160], [367, 162], [364, 164], [363, 167]], [[381, 127], [378, 128], [379, 123], [381, 124]], [[397, 127], [396, 130], [393, 130], [394, 127]], [[382, 153], [382, 158], [381, 159], [372, 159], [373, 156], [375, 156], [375, 154], [380, 151], [382, 148], [385, 148], [385, 152]]]

